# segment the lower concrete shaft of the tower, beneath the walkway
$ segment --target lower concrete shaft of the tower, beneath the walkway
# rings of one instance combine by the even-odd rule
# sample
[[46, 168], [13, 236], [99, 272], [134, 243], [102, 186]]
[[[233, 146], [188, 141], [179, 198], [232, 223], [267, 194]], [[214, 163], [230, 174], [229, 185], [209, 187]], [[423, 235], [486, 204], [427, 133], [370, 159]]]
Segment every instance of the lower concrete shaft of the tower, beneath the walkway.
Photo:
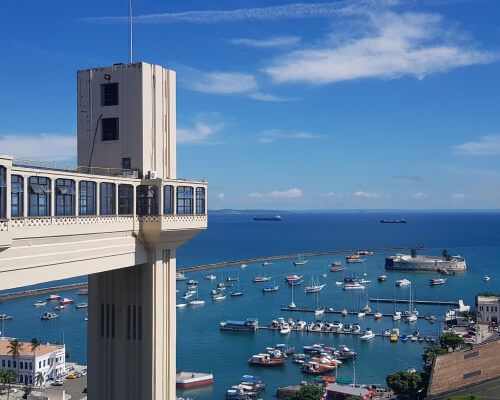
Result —
[[175, 399], [175, 251], [148, 258], [89, 275], [89, 399]]

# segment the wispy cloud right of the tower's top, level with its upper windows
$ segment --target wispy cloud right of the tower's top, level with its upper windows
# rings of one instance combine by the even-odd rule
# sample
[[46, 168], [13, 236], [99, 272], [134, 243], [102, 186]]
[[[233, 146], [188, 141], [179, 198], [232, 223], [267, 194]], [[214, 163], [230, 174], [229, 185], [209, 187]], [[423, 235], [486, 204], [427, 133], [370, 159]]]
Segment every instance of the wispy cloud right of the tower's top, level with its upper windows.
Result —
[[257, 79], [252, 74], [225, 71], [204, 72], [185, 66], [181, 66], [179, 69], [180, 85], [196, 92], [217, 95], [240, 95], [259, 101], [293, 100], [269, 93], [262, 93]]

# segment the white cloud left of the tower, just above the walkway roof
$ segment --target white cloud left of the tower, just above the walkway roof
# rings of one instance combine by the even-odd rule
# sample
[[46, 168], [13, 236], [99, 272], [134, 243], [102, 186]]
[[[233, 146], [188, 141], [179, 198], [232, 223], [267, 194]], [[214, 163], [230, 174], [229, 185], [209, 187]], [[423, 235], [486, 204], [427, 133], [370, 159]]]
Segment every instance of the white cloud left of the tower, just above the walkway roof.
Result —
[[0, 153], [20, 159], [70, 161], [76, 158], [76, 136], [53, 133], [0, 136]]

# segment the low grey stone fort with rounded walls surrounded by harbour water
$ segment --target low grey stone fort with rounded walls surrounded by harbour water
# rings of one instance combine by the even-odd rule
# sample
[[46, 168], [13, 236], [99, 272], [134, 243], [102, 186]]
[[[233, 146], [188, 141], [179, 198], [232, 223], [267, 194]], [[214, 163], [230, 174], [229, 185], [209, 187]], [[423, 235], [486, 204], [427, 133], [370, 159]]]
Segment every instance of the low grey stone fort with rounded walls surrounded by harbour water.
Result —
[[423, 256], [396, 254], [385, 258], [385, 269], [401, 271], [438, 271], [460, 272], [467, 269], [465, 259], [460, 256]]

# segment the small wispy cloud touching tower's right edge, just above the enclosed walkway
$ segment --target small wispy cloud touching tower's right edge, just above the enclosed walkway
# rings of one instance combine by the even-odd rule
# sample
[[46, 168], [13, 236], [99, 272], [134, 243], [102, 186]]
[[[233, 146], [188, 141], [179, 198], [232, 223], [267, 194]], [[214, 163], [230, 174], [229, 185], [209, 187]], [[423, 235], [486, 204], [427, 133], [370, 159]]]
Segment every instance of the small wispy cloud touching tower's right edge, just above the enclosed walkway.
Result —
[[177, 128], [179, 144], [219, 144], [214, 136], [224, 128], [217, 113], [202, 113], [195, 118], [190, 127]]

